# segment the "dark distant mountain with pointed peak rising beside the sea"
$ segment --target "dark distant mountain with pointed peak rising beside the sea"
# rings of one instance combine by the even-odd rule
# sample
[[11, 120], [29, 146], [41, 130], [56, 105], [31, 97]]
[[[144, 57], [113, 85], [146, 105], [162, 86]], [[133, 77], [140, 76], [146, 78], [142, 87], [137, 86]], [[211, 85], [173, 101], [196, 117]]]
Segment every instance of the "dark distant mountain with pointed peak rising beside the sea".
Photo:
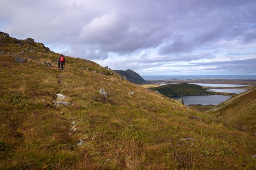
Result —
[[138, 73], [130, 69], [125, 71], [124, 70], [113, 70], [113, 71], [117, 72], [118, 74], [121, 74], [122, 76], [125, 76], [127, 80], [136, 84], [143, 84], [147, 82]]

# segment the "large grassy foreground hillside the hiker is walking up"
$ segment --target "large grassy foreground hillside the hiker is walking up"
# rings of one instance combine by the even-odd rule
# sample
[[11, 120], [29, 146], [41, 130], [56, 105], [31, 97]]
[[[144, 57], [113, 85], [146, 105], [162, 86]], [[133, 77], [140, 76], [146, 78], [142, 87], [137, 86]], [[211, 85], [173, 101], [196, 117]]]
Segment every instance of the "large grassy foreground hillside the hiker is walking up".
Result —
[[[256, 168], [254, 136], [94, 62], [66, 57], [61, 71], [59, 54], [20, 44], [0, 33], [1, 169]], [[70, 105], [54, 106], [55, 93]]]

